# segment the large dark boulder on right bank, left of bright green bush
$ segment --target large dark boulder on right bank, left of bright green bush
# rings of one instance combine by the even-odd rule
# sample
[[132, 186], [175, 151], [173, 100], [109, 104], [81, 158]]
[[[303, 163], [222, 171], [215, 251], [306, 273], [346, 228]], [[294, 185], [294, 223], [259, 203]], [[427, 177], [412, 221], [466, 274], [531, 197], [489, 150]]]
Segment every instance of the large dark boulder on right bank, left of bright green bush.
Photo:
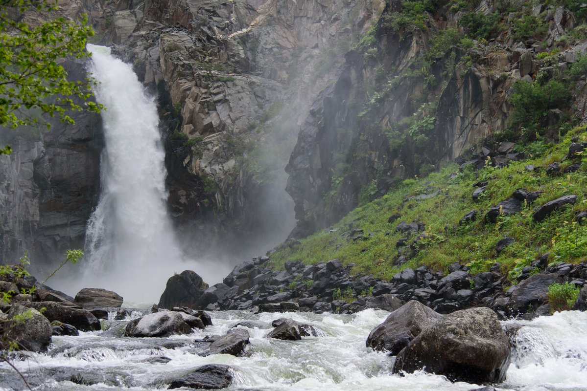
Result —
[[539, 273], [528, 277], [516, 285], [508, 303], [508, 310], [512, 315], [536, 310], [548, 302], [548, 287], [554, 283], [561, 283], [561, 278], [556, 273]]

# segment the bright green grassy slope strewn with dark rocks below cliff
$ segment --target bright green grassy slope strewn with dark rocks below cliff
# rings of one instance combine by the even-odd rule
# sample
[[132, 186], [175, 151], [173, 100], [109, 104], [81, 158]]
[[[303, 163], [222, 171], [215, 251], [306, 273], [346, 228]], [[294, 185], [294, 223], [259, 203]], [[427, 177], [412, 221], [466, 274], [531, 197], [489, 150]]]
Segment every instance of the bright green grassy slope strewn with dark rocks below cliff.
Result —
[[[547, 150], [543, 154], [534, 154], [531, 159], [512, 162], [504, 168], [485, 166], [478, 172], [472, 169], [458, 172], [458, 166], [450, 164], [424, 178], [406, 179], [381, 198], [356, 208], [329, 230], [300, 240], [298, 249], [286, 247], [276, 251], [272, 255], [272, 264], [282, 268], [285, 261], [313, 264], [339, 259], [343, 264], [355, 263], [353, 273], [389, 279], [406, 267], [427, 265], [447, 271], [449, 264], [458, 262], [470, 266], [472, 273], [479, 273], [499, 262], [502, 273], [508, 274], [511, 282], [516, 283], [521, 268], [542, 254], [550, 253], [551, 262], [578, 263], [585, 260], [587, 227], [573, 220], [576, 212], [587, 209], [587, 159], [578, 157], [563, 161], [572, 135], [587, 141], [585, 127], [579, 127], [569, 131], [560, 144], [545, 147]], [[525, 170], [525, 165], [545, 167], [555, 161], [561, 162], [562, 169], [573, 162], [582, 164], [576, 172], [562, 174], [561, 170], [561, 174], [554, 177], [546, 174], [544, 169]], [[471, 198], [475, 189], [473, 183], [480, 180], [488, 182], [487, 189], [478, 202], [474, 202]], [[534, 203], [524, 205], [521, 213], [500, 216], [496, 223], [485, 222], [485, 213], [510, 198], [518, 188], [542, 193]], [[411, 198], [435, 192], [437, 195], [431, 198]], [[542, 222], [534, 222], [535, 207], [568, 194], [577, 196], [575, 205], [552, 213]], [[468, 225], [459, 226], [459, 220], [473, 209], [480, 211], [480, 217]], [[394, 214], [402, 217], [389, 223], [389, 216]], [[400, 255], [396, 242], [406, 236], [394, 231], [401, 221], [425, 223], [426, 233], [432, 239], [427, 240], [407, 263], [396, 266], [394, 262]], [[363, 230], [363, 237], [353, 240], [357, 231], [352, 233], [351, 230]], [[514, 237], [515, 242], [498, 254], [495, 244], [505, 236]], [[414, 237], [410, 237], [409, 243]]]

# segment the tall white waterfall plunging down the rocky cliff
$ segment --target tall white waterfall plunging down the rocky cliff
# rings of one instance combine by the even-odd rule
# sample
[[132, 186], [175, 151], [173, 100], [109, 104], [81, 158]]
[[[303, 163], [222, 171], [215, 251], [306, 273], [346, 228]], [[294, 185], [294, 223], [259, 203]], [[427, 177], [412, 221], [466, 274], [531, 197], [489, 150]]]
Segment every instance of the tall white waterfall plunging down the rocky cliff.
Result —
[[107, 47], [88, 45], [105, 148], [102, 193], [86, 232], [82, 285], [116, 291], [126, 301], [158, 302], [167, 278], [194, 268], [167, 216], [164, 151], [157, 107], [131, 66]]

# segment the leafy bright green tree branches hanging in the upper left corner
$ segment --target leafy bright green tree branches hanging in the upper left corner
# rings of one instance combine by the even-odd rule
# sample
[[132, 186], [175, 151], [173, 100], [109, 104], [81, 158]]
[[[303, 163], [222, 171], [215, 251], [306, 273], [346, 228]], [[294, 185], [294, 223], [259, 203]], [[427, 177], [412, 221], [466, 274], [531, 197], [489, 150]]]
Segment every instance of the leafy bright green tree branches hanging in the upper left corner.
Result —
[[[26, 15], [38, 14], [26, 22]], [[94, 34], [86, 16], [60, 15], [56, 0], [0, 0], [0, 127], [39, 123], [43, 115], [72, 124], [71, 111], [98, 113], [90, 101], [93, 79], [69, 81], [62, 59], [85, 59], [86, 40]], [[9, 145], [1, 154], [11, 152]]]

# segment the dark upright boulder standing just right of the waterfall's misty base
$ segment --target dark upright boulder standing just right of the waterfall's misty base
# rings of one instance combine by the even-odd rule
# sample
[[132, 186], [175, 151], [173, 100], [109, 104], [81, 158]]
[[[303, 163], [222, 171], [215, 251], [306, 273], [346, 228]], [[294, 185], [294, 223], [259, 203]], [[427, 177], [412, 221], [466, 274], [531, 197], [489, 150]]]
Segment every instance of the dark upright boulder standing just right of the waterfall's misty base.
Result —
[[170, 277], [161, 298], [160, 308], [188, 307], [199, 308], [208, 284], [192, 270], [184, 270]]

